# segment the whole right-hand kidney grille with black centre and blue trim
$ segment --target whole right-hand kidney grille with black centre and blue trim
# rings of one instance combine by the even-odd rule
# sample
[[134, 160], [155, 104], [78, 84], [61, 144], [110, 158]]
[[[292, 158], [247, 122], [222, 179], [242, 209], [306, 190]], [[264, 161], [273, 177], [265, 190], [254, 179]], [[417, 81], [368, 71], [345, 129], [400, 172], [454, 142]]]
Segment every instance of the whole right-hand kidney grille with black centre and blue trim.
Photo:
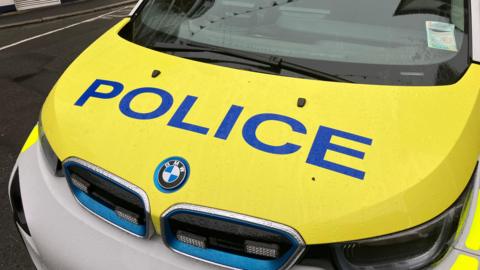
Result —
[[288, 268], [305, 248], [290, 227], [201, 206], [176, 205], [161, 225], [164, 242], [174, 251], [233, 268]]

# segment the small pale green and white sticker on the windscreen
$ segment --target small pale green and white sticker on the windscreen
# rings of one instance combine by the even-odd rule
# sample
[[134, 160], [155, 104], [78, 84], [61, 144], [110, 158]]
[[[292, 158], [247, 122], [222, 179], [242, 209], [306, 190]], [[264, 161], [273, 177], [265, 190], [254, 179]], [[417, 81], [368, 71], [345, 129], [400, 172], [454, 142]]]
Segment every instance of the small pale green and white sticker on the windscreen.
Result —
[[457, 52], [455, 25], [444, 22], [426, 21], [428, 47]]

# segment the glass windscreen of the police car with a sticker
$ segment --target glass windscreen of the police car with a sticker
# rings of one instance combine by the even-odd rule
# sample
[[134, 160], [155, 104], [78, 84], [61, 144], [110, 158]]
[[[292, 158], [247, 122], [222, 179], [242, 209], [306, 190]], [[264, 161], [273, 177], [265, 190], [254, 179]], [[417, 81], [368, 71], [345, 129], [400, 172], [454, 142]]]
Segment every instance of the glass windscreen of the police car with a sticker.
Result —
[[467, 14], [464, 0], [147, 0], [129, 38], [278, 56], [357, 83], [442, 85], [468, 67]]

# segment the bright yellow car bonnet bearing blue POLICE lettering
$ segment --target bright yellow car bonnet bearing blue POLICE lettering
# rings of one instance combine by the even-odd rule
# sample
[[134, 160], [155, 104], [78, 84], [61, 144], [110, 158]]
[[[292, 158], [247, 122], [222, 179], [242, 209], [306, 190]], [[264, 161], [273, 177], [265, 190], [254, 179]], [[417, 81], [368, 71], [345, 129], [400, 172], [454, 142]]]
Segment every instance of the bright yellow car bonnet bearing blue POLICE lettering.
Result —
[[[470, 179], [478, 65], [441, 87], [291, 78], [138, 46], [118, 36], [127, 22], [75, 60], [41, 118], [61, 160], [142, 188], [157, 231], [168, 207], [191, 203], [289, 225], [307, 244], [368, 238], [434, 218]], [[166, 193], [154, 174], [172, 156], [190, 175]]]

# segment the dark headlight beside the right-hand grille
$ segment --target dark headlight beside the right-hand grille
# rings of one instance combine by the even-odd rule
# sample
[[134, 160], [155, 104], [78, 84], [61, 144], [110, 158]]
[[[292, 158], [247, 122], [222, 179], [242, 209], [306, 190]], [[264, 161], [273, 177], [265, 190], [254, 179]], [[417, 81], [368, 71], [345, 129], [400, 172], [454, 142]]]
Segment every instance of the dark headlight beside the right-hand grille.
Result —
[[340, 243], [334, 253], [341, 269], [419, 269], [451, 246], [471, 184], [443, 214], [416, 228], [383, 237]]

